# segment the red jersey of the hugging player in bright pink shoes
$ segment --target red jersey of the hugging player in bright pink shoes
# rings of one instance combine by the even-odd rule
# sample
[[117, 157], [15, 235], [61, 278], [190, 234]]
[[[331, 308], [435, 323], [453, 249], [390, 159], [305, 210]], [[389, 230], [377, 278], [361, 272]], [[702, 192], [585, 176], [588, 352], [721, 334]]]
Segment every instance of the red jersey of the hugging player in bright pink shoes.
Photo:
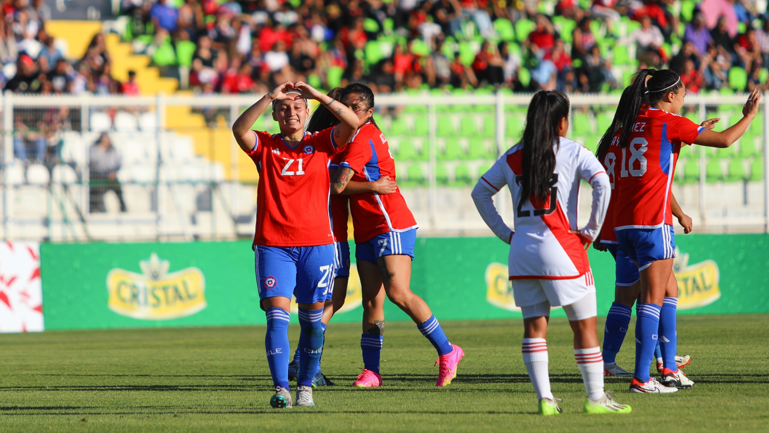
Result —
[[[374, 182], [381, 176], [395, 180], [395, 160], [390, 146], [384, 134], [371, 122], [358, 129], [339, 161], [339, 166], [355, 170], [350, 179], [355, 182]], [[355, 243], [371, 240], [381, 233], [404, 232], [418, 227], [400, 189], [391, 194], [360, 193], [349, 197]]]

